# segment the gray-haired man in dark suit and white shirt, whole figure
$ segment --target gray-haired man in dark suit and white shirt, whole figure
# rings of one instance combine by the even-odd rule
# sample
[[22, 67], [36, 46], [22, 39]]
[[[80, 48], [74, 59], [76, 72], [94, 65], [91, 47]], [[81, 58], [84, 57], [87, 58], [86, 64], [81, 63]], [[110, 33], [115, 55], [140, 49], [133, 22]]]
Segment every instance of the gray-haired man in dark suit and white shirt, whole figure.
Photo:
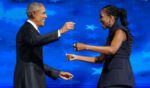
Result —
[[74, 29], [73, 22], [46, 35], [40, 35], [38, 27], [44, 26], [47, 18], [42, 3], [31, 3], [27, 7], [28, 20], [16, 36], [17, 60], [14, 74], [14, 88], [46, 88], [45, 74], [52, 79], [61, 77], [70, 80], [73, 75], [43, 64], [42, 47], [56, 41], [61, 34]]

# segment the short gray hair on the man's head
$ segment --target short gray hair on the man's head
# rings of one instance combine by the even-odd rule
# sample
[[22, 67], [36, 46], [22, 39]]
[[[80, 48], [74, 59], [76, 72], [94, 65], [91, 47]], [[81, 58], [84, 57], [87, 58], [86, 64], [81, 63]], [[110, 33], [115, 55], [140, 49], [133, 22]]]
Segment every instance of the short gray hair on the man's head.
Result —
[[30, 3], [28, 5], [27, 9], [26, 9], [26, 13], [27, 13], [28, 18], [31, 17], [32, 12], [38, 11], [39, 7], [41, 7], [41, 6], [43, 6], [43, 4], [39, 3], [39, 2], [32, 2], [32, 3]]

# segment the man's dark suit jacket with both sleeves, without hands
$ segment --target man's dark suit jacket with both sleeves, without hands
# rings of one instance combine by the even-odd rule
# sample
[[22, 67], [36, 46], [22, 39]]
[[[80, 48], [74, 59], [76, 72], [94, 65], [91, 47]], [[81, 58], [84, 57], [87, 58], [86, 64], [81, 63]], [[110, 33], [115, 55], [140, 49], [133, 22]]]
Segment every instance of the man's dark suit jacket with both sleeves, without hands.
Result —
[[16, 36], [14, 88], [46, 88], [45, 74], [56, 79], [59, 70], [43, 64], [42, 46], [58, 40], [58, 31], [41, 36], [26, 22]]

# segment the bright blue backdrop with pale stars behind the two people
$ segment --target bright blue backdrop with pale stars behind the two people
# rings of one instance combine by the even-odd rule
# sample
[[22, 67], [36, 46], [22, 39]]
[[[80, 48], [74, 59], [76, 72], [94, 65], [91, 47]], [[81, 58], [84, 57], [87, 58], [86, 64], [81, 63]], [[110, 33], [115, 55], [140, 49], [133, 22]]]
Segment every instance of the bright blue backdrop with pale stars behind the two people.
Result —
[[44, 62], [54, 68], [74, 74], [70, 81], [46, 78], [50, 88], [96, 88], [102, 64], [81, 61], [68, 62], [66, 53], [97, 56], [99, 53], [75, 52], [72, 45], [83, 42], [103, 45], [108, 30], [99, 23], [99, 11], [108, 4], [123, 7], [134, 36], [131, 65], [136, 87], [150, 87], [150, 1], [149, 0], [0, 0], [0, 88], [13, 87], [16, 63], [16, 33], [27, 20], [26, 7], [31, 1], [41, 1], [46, 6], [48, 18], [41, 34], [61, 28], [66, 21], [74, 21], [74, 31], [61, 36], [59, 41], [44, 47]]

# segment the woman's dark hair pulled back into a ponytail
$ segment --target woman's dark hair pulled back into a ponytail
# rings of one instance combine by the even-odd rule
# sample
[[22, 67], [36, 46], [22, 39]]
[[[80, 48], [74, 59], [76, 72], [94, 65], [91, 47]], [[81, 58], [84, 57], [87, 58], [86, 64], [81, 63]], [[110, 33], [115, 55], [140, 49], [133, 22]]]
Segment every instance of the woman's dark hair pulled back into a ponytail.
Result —
[[128, 27], [127, 12], [124, 8], [118, 8], [114, 5], [107, 5], [103, 7], [102, 10], [105, 10], [107, 15], [114, 16], [116, 20], [120, 18], [121, 24], [125, 27]]

